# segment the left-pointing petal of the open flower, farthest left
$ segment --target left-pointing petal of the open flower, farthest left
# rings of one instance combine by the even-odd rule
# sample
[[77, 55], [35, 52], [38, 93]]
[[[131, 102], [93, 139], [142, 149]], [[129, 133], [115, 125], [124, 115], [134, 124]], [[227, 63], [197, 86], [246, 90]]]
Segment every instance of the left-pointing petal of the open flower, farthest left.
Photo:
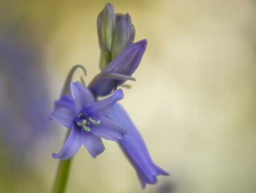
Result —
[[61, 107], [53, 111], [48, 117], [50, 120], [61, 123], [61, 125], [67, 128], [71, 128], [73, 119], [76, 116], [75, 107], [66, 102], [58, 102], [58, 105]]

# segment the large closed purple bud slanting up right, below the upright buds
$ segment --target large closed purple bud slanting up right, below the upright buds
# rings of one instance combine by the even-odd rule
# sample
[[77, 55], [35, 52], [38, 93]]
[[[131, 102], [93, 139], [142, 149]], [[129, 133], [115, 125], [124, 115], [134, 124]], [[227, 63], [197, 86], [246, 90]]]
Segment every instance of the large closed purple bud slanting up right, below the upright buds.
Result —
[[[139, 67], [142, 56], [146, 50], [147, 41], [132, 43], [126, 47], [112, 62], [107, 65], [101, 73], [117, 73], [120, 75], [131, 76], [137, 67]], [[101, 74], [100, 73], [100, 74]], [[117, 80], [115, 78], [102, 79], [100, 76], [95, 76], [89, 83], [88, 89], [93, 96], [109, 95], [115, 87], [122, 85], [126, 80]]]

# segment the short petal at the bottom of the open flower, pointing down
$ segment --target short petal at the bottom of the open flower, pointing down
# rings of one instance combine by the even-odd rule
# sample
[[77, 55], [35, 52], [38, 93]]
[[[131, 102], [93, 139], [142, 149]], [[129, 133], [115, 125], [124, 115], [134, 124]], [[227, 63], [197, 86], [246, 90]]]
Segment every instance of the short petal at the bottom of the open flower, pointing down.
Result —
[[84, 132], [83, 145], [94, 159], [105, 150], [101, 137], [94, 135], [92, 132]]

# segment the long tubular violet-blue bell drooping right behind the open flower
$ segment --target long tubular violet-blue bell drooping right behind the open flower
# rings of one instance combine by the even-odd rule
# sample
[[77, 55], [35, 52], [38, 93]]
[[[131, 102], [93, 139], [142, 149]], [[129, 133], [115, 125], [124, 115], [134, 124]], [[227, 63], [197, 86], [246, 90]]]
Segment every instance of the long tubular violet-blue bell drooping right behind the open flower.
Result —
[[156, 184], [156, 176], [169, 176], [168, 172], [154, 164], [139, 131], [137, 131], [134, 123], [132, 123], [130, 117], [119, 103], [116, 103], [112, 107], [107, 118], [126, 128], [128, 131], [128, 134], [118, 143], [136, 170], [142, 189], [146, 187], [146, 184]]

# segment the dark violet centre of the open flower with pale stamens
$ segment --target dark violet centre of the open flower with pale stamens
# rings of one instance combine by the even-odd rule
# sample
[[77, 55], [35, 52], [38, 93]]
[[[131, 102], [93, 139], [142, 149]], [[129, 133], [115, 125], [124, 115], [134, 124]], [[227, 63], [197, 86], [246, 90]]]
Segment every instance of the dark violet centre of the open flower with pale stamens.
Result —
[[[94, 118], [96, 118], [96, 117], [94, 117]], [[93, 120], [83, 110], [80, 111], [80, 113], [77, 115], [77, 117], [75, 118], [75, 122], [78, 126], [82, 127], [83, 130], [85, 130], [85, 131], [90, 131], [91, 130], [91, 128], [90, 128], [91, 125], [100, 124], [100, 121]]]

